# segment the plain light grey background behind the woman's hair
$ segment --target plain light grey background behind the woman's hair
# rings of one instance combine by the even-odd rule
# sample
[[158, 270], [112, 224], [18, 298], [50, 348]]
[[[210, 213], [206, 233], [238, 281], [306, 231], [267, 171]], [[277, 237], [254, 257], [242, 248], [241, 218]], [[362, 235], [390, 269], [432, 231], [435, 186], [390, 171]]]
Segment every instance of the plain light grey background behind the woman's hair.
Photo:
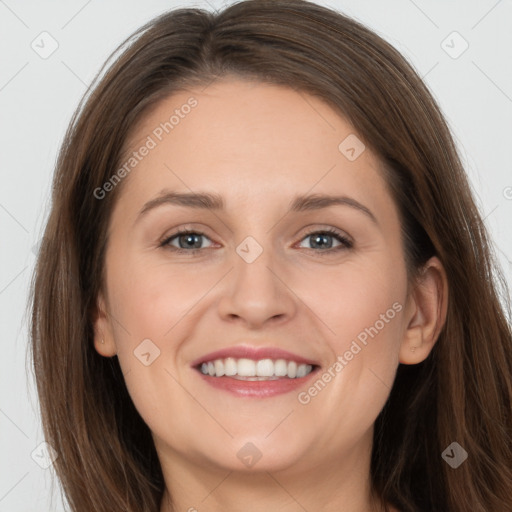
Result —
[[[213, 10], [227, 3], [0, 0], [0, 512], [63, 510], [58, 492], [51, 501], [51, 467], [39, 465], [45, 458], [26, 370], [25, 308], [71, 114], [110, 52], [144, 22], [177, 6]], [[512, 1], [318, 3], [374, 29], [424, 77], [455, 135], [510, 283]], [[44, 55], [52, 44], [58, 48]]]

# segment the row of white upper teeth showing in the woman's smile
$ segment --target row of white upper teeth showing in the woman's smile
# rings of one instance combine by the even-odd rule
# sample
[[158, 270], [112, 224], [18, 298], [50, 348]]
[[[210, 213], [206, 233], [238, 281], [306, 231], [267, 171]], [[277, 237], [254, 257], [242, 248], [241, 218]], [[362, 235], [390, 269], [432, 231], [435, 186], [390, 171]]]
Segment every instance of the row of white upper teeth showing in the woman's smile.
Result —
[[313, 366], [310, 364], [297, 364], [295, 361], [284, 359], [215, 359], [201, 365], [201, 373], [211, 377], [288, 377], [290, 379], [305, 377], [311, 373]]

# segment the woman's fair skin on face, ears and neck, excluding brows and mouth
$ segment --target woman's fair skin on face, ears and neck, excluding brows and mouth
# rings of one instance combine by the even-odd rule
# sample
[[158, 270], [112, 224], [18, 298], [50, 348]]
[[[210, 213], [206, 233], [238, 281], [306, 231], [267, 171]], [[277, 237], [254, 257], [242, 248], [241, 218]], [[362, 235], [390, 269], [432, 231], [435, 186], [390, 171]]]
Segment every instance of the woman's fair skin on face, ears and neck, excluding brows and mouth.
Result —
[[[355, 130], [307, 94], [236, 78], [179, 92], [146, 116], [130, 147], [191, 96], [197, 107], [122, 183], [95, 320], [96, 350], [117, 355], [153, 433], [167, 487], [161, 512], [173, 510], [169, 495], [175, 510], [368, 512], [373, 425], [398, 364], [423, 361], [435, 344], [446, 315], [443, 267], [432, 258], [421, 282], [408, 282], [378, 159], [366, 149], [349, 161], [338, 145]], [[218, 193], [226, 209], [164, 204], [138, 218], [163, 190]], [[349, 196], [376, 222], [346, 205], [287, 213], [307, 193]], [[205, 234], [198, 255], [159, 245], [179, 227]], [[353, 247], [315, 248], [308, 232], [326, 228]], [[252, 263], [236, 252], [248, 236], [263, 249]], [[394, 303], [401, 311], [307, 404], [295, 391], [236, 397], [190, 366], [246, 343], [324, 370]], [[149, 366], [134, 356], [147, 338], [160, 350]], [[252, 467], [237, 457], [249, 442], [261, 454]]]

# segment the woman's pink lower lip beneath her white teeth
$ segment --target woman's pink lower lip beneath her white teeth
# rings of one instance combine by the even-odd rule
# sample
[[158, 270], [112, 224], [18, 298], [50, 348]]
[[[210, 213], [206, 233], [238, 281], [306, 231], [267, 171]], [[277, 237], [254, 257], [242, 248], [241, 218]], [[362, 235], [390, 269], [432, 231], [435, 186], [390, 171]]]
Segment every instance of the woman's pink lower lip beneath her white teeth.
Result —
[[239, 397], [268, 398], [271, 396], [290, 393], [303, 386], [316, 372], [315, 368], [305, 377], [295, 379], [282, 378], [276, 380], [239, 380], [231, 377], [211, 377], [204, 375], [199, 370], [198, 374], [210, 386], [228, 391]]

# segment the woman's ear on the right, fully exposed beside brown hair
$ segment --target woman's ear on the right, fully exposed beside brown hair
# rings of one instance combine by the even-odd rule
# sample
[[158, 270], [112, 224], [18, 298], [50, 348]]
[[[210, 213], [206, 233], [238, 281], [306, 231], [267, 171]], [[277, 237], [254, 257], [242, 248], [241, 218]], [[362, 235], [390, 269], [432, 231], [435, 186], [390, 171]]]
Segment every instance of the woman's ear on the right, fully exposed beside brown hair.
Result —
[[448, 310], [448, 280], [436, 256], [424, 265], [409, 292], [405, 309], [406, 331], [399, 361], [402, 364], [421, 363], [434, 348]]

